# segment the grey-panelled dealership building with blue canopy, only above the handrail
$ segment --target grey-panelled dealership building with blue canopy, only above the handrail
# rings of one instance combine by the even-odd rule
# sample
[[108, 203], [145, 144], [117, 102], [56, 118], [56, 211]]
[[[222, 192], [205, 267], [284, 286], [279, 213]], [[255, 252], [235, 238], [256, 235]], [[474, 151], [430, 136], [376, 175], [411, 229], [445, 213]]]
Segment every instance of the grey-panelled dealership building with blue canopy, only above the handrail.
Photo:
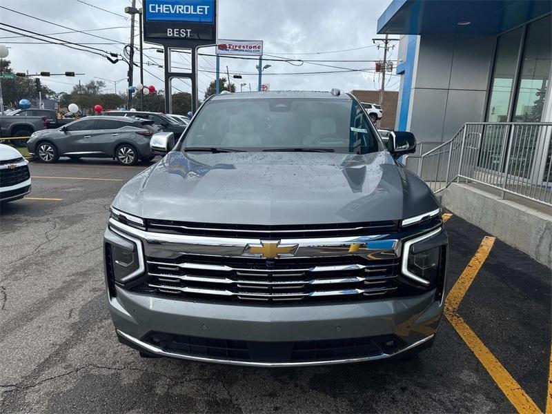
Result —
[[552, 1], [393, 0], [400, 37], [395, 128], [446, 141], [466, 122], [552, 121]]

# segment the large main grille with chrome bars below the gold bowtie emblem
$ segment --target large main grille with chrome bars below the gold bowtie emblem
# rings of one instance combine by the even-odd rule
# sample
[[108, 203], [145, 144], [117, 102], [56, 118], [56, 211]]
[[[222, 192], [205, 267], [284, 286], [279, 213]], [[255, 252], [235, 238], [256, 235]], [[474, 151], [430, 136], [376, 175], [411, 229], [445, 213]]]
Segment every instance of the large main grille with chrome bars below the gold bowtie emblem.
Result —
[[397, 289], [398, 259], [358, 256], [250, 259], [186, 255], [147, 258], [148, 281], [137, 286], [156, 295], [203, 299], [297, 302], [382, 297]]

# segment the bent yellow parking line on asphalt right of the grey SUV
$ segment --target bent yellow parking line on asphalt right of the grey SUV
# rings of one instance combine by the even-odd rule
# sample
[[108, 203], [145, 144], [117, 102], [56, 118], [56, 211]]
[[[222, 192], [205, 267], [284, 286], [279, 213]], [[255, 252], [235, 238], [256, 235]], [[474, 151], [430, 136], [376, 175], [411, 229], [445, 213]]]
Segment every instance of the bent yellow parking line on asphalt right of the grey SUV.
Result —
[[477, 337], [475, 332], [473, 332], [464, 319], [457, 313], [460, 302], [464, 299], [464, 295], [466, 295], [477, 272], [479, 272], [485, 259], [489, 256], [494, 242], [495, 237], [484, 237], [477, 252], [475, 252], [468, 266], [466, 266], [462, 275], [457, 279], [449, 295], [446, 297], [444, 315], [446, 319], [449, 319], [455, 331], [464, 339], [466, 345], [470, 348], [475, 357], [479, 359], [515, 409], [519, 413], [540, 413], [540, 409], [535, 402], [531, 400], [531, 397], [527, 395], [520, 384], [513, 379], [510, 373], [506, 371], [506, 368], [500, 364], [500, 361], [495, 355], [489, 351], [489, 348], [485, 346], [482, 340]]

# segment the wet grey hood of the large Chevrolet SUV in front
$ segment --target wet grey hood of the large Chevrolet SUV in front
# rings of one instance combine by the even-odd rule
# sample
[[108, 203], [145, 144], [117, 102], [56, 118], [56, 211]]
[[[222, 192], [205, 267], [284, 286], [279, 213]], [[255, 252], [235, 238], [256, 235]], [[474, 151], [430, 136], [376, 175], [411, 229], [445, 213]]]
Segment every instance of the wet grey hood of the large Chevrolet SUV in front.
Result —
[[388, 152], [173, 151], [113, 206], [149, 219], [278, 225], [396, 220], [439, 204]]

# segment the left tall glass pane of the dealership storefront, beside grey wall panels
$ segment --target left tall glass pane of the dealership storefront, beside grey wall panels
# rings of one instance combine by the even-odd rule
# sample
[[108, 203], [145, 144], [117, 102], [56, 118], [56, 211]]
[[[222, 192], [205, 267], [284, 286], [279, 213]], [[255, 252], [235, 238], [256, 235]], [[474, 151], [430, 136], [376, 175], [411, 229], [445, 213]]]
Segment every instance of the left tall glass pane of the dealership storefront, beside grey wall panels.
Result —
[[498, 38], [486, 117], [488, 122], [508, 121], [509, 103], [514, 86], [521, 37], [522, 28], [519, 28]]

